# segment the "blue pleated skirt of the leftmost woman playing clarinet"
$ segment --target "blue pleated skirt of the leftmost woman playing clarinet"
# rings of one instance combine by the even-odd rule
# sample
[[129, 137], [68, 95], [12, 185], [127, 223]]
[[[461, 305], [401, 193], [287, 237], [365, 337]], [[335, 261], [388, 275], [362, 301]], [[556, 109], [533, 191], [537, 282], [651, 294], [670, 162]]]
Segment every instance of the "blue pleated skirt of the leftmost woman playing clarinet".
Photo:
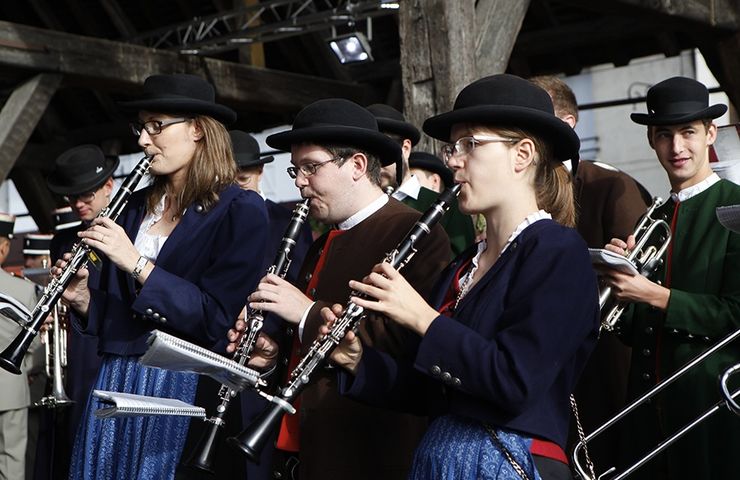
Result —
[[[193, 403], [198, 376], [149, 368], [138, 357], [106, 355], [95, 388]], [[143, 416], [98, 419], [104, 406], [90, 396], [77, 431], [72, 480], [165, 480], [175, 476], [188, 433], [189, 417]]]

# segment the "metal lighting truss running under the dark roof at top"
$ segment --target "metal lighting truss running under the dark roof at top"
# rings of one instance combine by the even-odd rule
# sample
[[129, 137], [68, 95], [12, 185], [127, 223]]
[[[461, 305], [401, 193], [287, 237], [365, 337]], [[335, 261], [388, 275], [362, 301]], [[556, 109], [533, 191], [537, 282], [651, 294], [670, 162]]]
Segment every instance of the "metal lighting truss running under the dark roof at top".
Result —
[[390, 0], [264, 0], [128, 39], [152, 48], [208, 55], [394, 14]]

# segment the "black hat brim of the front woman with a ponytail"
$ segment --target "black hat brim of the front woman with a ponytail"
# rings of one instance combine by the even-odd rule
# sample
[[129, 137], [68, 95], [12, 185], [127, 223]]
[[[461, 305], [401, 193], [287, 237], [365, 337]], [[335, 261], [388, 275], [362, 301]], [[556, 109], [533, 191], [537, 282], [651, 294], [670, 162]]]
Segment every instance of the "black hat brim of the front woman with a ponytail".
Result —
[[555, 159], [561, 162], [571, 160], [573, 172], [576, 171], [581, 141], [575, 130], [555, 115], [527, 107], [478, 105], [428, 118], [423, 128], [430, 137], [450, 142], [453, 125], [465, 123], [529, 130], [540, 135], [551, 146]]

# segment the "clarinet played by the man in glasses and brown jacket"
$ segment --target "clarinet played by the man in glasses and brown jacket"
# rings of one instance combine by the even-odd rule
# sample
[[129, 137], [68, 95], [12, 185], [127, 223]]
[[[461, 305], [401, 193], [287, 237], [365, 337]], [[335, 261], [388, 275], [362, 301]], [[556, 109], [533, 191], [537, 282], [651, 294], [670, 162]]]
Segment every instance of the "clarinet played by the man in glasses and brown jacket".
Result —
[[[296, 239], [301, 232], [301, 227], [306, 221], [308, 216], [308, 204], [310, 199], [306, 199], [296, 205], [293, 210], [293, 217], [288, 224], [288, 228], [285, 230], [283, 239], [280, 242], [280, 248], [275, 255], [275, 260], [272, 265], [267, 269], [267, 273], [274, 273], [280, 278], [285, 278], [290, 268], [291, 251], [296, 244]], [[261, 310], [248, 309], [247, 311], [247, 325], [249, 326], [247, 333], [242, 336], [239, 341], [239, 345], [234, 352], [232, 359], [238, 362], [240, 365], [245, 365], [252, 356], [252, 351], [257, 343], [257, 337], [262, 330], [264, 324], [264, 316]], [[229, 388], [227, 385], [221, 385], [218, 391], [218, 397], [221, 403], [216, 407], [216, 413], [206, 419], [210, 425], [207, 426], [206, 431], [203, 432], [203, 436], [200, 438], [195, 450], [192, 455], [188, 458], [186, 465], [192, 468], [203, 470], [209, 473], [215, 473], [213, 470], [213, 459], [215, 453], [216, 439], [219, 432], [223, 429], [226, 421], [226, 411], [229, 408], [231, 400], [236, 396], [234, 390]]]

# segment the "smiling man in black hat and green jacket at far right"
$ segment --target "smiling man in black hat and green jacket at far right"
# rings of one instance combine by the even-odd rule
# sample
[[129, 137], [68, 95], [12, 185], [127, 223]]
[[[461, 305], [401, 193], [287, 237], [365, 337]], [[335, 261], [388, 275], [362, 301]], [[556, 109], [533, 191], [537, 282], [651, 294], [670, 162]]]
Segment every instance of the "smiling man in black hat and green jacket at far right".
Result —
[[[740, 203], [740, 187], [721, 180], [709, 164], [709, 146], [717, 135], [712, 120], [727, 106], [709, 106], [703, 84], [674, 77], [648, 90], [647, 107], [648, 113], [631, 118], [647, 126], [648, 142], [668, 174], [671, 195], [656, 216], [670, 223], [673, 239], [655, 281], [605, 272], [615, 297], [635, 303], [632, 316], [623, 321], [632, 345], [633, 398], [736, 330], [740, 319], [740, 235], [725, 229], [715, 215], [717, 207]], [[627, 254], [635, 239], [625, 240], [613, 239], [607, 248]], [[737, 346], [720, 350], [631, 415], [635, 430], [627, 461], [634, 462], [715, 403], [718, 375], [738, 361]], [[652, 462], [646, 478], [740, 478], [737, 428], [737, 418], [721, 410]]]

